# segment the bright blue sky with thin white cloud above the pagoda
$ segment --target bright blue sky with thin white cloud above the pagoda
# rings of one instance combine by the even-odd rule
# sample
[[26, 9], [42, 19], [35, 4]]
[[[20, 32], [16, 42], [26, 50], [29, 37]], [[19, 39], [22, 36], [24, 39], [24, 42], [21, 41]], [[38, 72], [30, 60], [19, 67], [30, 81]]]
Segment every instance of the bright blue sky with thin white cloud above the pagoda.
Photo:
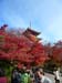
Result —
[[0, 27], [41, 32], [43, 42], [62, 40], [62, 0], [0, 0]]

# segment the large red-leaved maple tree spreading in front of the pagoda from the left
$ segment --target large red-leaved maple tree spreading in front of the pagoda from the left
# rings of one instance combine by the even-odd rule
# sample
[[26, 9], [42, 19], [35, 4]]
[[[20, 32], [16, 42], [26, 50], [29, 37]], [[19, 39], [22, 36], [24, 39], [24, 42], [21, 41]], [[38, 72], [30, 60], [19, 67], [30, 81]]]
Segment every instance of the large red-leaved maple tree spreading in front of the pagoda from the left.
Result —
[[0, 60], [7, 60], [14, 64], [39, 65], [46, 59], [42, 43], [31, 37], [32, 40], [23, 34], [14, 34], [6, 31], [7, 25], [0, 29]]

